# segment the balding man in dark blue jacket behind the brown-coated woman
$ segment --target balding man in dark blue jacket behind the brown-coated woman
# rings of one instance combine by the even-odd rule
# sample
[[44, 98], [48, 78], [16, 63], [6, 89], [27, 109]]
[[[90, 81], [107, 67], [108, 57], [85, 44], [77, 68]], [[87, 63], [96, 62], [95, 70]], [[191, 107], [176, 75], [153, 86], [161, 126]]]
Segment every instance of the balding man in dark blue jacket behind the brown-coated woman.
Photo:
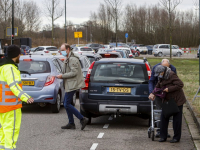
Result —
[[[173, 65], [170, 64], [168, 59], [163, 59], [161, 61], [161, 63], [155, 65], [153, 67], [153, 69], [152, 69], [151, 78], [149, 80], [149, 93], [150, 93], [150, 96], [151, 96], [151, 93], [153, 92], [156, 84], [158, 83], [158, 77], [155, 76], [155, 68], [157, 66], [159, 66], [159, 65], [169, 67], [176, 74], [176, 68]], [[156, 109], [160, 110], [161, 109], [161, 105], [162, 105], [162, 100], [159, 97], [156, 97], [155, 98], [155, 104], [156, 104]], [[160, 122], [157, 123], [157, 127], [160, 128]], [[160, 129], [157, 129], [156, 137], [157, 138], [160, 137]], [[168, 135], [168, 137], [170, 137], [170, 135]]]

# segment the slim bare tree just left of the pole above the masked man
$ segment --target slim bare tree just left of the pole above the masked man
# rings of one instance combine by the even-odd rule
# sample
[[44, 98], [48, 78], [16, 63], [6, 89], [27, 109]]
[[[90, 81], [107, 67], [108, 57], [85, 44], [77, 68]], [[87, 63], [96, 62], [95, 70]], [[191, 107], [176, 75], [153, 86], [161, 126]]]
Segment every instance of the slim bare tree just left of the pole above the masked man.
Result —
[[59, 7], [60, 0], [44, 0], [44, 6], [46, 8], [45, 14], [48, 18], [51, 18], [52, 24], [52, 42], [54, 44], [54, 22], [63, 15], [64, 9]]

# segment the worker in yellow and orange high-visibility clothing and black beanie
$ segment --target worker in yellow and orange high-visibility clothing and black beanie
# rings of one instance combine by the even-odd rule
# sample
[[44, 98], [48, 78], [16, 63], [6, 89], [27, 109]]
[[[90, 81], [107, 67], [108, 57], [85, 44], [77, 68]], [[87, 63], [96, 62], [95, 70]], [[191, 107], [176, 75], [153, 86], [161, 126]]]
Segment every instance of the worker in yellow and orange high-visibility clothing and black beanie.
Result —
[[11, 45], [7, 56], [0, 59], [0, 150], [15, 150], [21, 126], [22, 101], [34, 100], [22, 91], [22, 82], [17, 63], [20, 48]]

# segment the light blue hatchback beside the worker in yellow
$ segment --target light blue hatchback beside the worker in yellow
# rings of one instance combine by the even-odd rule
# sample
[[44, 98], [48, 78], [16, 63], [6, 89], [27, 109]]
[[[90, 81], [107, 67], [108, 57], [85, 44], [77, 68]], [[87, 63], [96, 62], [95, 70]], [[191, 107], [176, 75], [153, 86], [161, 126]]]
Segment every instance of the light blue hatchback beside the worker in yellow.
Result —
[[[51, 104], [53, 113], [59, 113], [65, 96], [63, 79], [56, 78], [56, 75], [61, 74], [62, 66], [63, 62], [53, 56], [20, 57], [22, 89], [41, 107]], [[73, 105], [75, 102], [76, 94], [74, 94]]]

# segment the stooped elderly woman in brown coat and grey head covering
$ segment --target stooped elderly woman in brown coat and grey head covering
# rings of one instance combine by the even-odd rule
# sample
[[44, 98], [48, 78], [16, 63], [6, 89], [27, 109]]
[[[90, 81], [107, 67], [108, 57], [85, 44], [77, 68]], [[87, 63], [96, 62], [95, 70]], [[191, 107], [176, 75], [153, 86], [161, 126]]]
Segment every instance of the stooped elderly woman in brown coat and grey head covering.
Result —
[[[164, 89], [166, 96], [164, 101], [169, 101], [173, 99], [179, 109], [178, 113], [173, 114], [173, 130], [174, 136], [170, 143], [177, 143], [181, 139], [181, 127], [182, 127], [182, 114], [183, 114], [183, 104], [186, 102], [186, 97], [183, 92], [183, 82], [179, 77], [171, 71], [170, 68], [158, 65], [155, 68], [155, 76], [158, 77], [159, 81], [156, 88]], [[154, 100], [156, 93], [151, 93], [149, 99]], [[160, 140], [159, 142], [165, 142], [168, 136], [168, 125], [170, 117], [165, 117], [162, 111], [161, 113], [161, 125], [160, 125]]]

